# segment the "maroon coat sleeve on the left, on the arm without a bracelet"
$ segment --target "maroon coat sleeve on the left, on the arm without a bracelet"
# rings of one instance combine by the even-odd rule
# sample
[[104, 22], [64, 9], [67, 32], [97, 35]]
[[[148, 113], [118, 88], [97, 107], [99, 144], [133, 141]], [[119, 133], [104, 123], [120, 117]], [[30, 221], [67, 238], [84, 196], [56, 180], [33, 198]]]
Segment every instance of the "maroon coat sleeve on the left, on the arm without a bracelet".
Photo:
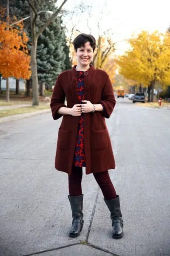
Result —
[[64, 102], [65, 102], [65, 93], [64, 93], [64, 91], [61, 87], [61, 84], [60, 84], [59, 80], [60, 80], [60, 76], [58, 76], [57, 81], [55, 83], [52, 98], [51, 98], [51, 103], [50, 103], [52, 116], [53, 116], [54, 120], [57, 120], [60, 117], [62, 117], [62, 115], [60, 115], [58, 113], [59, 108], [61, 108], [61, 107], [66, 107], [67, 108], [67, 106], [64, 104]]

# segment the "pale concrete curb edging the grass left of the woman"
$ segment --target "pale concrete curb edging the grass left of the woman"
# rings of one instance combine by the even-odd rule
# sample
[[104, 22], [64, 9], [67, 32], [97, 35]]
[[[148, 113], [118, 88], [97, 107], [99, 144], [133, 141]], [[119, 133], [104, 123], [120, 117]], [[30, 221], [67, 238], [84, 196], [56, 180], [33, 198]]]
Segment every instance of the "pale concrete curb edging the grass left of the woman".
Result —
[[51, 109], [42, 109], [42, 110], [38, 110], [35, 112], [31, 112], [31, 113], [24, 113], [24, 114], [19, 114], [19, 115], [14, 115], [14, 116], [1, 117], [0, 123], [14, 121], [14, 120], [22, 119], [24, 117], [35, 116], [35, 115], [47, 113], [47, 112], [51, 112]]

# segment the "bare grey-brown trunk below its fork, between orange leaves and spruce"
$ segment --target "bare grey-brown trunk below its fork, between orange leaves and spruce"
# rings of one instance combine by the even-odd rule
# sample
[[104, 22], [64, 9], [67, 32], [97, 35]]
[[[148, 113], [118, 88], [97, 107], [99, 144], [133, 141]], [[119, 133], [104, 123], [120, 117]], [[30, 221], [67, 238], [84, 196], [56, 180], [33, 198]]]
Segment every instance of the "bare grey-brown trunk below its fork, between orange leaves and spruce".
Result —
[[32, 72], [32, 105], [39, 105], [38, 75], [37, 75], [37, 38], [32, 40], [31, 45], [31, 72]]

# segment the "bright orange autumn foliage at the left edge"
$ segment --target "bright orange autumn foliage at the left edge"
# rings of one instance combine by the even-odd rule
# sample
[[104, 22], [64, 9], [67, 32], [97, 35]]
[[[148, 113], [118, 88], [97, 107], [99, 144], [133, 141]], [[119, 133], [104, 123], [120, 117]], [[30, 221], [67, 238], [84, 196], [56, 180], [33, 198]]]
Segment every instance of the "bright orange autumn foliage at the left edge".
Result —
[[3, 78], [29, 79], [31, 76], [28, 37], [23, 23], [10, 26], [11, 21], [0, 21], [0, 73]]

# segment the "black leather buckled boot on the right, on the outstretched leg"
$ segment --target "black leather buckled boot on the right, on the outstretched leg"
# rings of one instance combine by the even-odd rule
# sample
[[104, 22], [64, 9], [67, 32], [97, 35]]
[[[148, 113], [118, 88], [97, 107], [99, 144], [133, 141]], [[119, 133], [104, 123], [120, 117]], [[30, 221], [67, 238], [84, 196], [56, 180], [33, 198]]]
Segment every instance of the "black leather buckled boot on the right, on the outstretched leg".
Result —
[[115, 199], [106, 200], [104, 199], [105, 203], [107, 204], [110, 212], [111, 212], [111, 220], [113, 226], [113, 238], [122, 238], [123, 236], [123, 220], [122, 220], [122, 213], [120, 211], [120, 202], [119, 202], [119, 195]]

